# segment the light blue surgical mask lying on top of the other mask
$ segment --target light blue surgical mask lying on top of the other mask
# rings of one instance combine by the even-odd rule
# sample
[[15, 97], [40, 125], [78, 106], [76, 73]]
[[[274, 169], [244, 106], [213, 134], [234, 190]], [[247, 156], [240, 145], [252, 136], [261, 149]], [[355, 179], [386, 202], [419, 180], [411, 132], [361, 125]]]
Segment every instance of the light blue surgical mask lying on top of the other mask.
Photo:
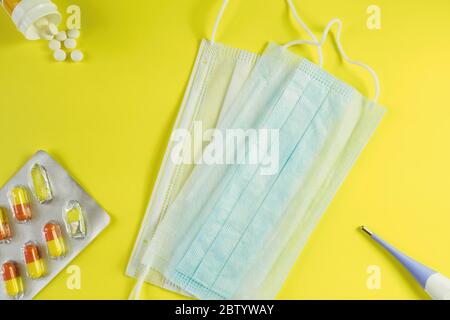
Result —
[[[320, 43], [288, 46], [321, 48], [331, 25]], [[288, 46], [268, 47], [223, 120], [280, 130], [277, 175], [257, 165], [196, 167], [143, 256], [195, 297], [274, 297], [383, 115]]]

